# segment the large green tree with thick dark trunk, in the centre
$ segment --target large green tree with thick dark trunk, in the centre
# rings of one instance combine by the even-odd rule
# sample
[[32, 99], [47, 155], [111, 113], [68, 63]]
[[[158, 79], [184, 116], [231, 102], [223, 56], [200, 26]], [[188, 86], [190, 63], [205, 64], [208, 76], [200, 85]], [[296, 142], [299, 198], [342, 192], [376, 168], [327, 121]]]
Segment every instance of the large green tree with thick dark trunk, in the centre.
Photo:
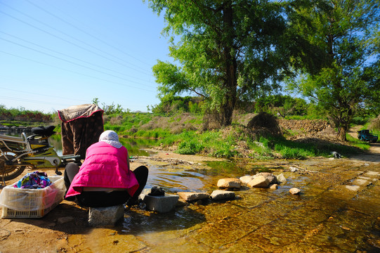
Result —
[[159, 97], [202, 96], [221, 125], [232, 122], [238, 100], [278, 88], [286, 74], [287, 25], [280, 2], [267, 0], [149, 0], [164, 13], [173, 63], [153, 72]]

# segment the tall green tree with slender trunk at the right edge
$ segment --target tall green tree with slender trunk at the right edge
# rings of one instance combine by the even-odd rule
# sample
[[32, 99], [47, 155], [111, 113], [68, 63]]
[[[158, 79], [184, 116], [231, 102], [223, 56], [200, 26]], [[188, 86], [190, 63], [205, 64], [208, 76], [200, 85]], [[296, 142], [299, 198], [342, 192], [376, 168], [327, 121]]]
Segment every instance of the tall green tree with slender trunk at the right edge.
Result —
[[319, 65], [294, 61], [303, 69], [291, 86], [320, 105], [345, 141], [356, 109], [379, 89], [369, 40], [379, 34], [379, 0], [295, 1], [291, 11], [294, 31], [320, 53]]

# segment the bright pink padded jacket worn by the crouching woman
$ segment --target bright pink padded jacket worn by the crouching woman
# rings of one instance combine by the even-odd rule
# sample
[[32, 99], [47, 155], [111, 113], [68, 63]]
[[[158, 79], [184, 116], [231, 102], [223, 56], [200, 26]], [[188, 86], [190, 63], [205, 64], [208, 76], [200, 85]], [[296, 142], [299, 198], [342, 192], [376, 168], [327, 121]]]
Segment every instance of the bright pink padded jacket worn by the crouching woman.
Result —
[[81, 194], [84, 187], [126, 188], [133, 196], [138, 188], [135, 174], [129, 170], [128, 151], [114, 148], [103, 141], [94, 143], [86, 151], [86, 160], [74, 176], [66, 197]]

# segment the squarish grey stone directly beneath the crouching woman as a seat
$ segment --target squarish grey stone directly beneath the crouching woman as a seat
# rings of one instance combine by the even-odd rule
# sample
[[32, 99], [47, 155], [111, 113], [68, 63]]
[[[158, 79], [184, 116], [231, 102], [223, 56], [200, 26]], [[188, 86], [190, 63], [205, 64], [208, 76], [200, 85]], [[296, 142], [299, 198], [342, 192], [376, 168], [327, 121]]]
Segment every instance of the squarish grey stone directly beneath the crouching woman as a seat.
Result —
[[113, 207], [90, 207], [90, 226], [114, 226], [117, 221], [124, 217], [123, 205]]

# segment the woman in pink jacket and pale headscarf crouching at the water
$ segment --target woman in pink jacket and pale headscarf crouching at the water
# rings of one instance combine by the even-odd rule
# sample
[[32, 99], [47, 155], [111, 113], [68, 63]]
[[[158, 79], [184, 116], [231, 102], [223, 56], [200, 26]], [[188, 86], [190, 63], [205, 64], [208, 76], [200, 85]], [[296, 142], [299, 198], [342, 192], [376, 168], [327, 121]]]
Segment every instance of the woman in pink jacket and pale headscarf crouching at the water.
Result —
[[129, 155], [116, 132], [100, 134], [99, 142], [86, 151], [80, 169], [77, 164], [65, 168], [67, 200], [76, 199], [83, 207], [133, 205], [145, 187], [148, 168], [129, 169]]

